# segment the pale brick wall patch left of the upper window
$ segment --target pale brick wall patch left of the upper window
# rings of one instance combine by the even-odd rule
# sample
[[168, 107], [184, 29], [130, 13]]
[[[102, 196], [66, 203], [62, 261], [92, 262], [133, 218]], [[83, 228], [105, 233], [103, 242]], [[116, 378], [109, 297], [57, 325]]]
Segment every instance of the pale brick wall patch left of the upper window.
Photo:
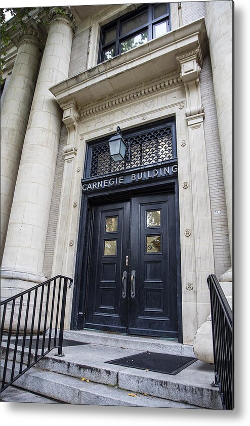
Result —
[[76, 34], [72, 42], [72, 50], [69, 64], [69, 78], [77, 75], [87, 68], [88, 47], [89, 47], [90, 29]]

